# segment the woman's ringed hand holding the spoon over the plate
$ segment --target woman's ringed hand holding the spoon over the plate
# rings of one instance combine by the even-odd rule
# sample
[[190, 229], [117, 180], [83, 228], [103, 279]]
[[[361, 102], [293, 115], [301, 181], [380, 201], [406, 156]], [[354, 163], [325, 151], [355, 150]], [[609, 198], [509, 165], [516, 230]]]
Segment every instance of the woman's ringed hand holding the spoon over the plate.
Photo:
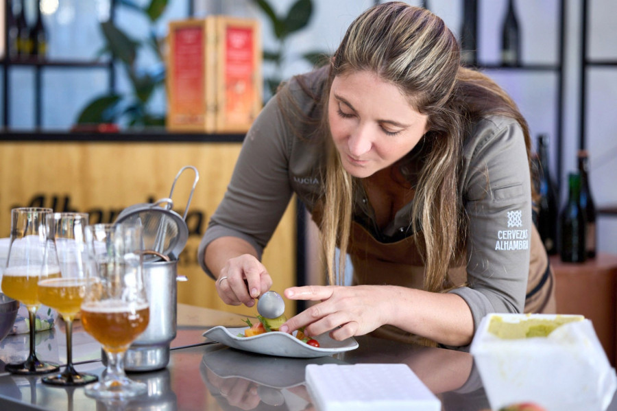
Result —
[[228, 305], [255, 305], [255, 298], [267, 292], [272, 279], [256, 257], [243, 254], [228, 259], [216, 281], [217, 292]]

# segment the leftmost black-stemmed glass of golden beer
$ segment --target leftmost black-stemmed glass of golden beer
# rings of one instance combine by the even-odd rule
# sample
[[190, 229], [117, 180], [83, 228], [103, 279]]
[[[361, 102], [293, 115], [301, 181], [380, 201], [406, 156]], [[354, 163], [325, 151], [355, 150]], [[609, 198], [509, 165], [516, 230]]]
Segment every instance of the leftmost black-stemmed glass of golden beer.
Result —
[[11, 239], [6, 268], [2, 276], [2, 292], [28, 309], [30, 351], [25, 362], [6, 364], [5, 370], [14, 374], [45, 374], [58, 371], [56, 364], [40, 362], [34, 352], [35, 314], [38, 301], [38, 277], [60, 277], [58, 264], [44, 263], [45, 218], [53, 210], [23, 207], [11, 210]]

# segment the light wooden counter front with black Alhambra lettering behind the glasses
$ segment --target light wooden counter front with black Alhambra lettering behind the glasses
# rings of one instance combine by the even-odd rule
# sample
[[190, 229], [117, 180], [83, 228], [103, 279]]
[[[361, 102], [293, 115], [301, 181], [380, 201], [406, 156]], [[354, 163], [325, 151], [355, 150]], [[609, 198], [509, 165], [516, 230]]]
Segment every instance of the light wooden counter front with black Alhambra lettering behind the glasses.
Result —
[[[223, 198], [241, 145], [239, 143], [0, 143], [0, 237], [10, 233], [10, 209], [29, 205], [56, 211], [84, 211], [90, 222], [108, 222], [131, 204], [169, 196], [173, 179], [184, 165], [199, 170], [189, 209], [189, 242], [180, 255], [178, 301], [201, 307], [254, 315], [254, 308], [229, 307], [218, 298], [214, 282], [197, 265], [196, 251], [210, 215]], [[180, 215], [193, 185], [187, 169], [173, 192]], [[295, 283], [295, 202], [291, 202], [263, 262], [282, 292]], [[276, 258], [274, 257], [276, 256]], [[291, 302], [287, 315], [295, 312]]]

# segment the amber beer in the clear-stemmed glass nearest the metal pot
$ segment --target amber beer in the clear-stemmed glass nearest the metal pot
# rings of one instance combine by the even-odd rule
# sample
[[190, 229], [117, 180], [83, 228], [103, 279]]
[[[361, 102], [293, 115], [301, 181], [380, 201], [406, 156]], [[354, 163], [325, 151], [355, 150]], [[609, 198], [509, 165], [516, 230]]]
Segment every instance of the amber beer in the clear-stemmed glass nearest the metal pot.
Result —
[[131, 342], [145, 331], [149, 319], [147, 303], [106, 300], [82, 305], [84, 329], [112, 353], [128, 349]]

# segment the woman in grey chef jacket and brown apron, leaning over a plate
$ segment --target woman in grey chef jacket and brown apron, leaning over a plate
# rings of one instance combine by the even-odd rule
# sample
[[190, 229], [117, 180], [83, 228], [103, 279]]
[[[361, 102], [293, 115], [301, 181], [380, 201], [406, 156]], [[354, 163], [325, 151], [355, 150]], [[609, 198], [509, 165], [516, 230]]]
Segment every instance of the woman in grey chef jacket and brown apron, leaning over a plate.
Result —
[[[320, 227], [332, 285], [285, 290], [321, 302], [282, 331], [466, 347], [489, 312], [553, 309], [529, 158], [526, 121], [460, 66], [444, 22], [376, 5], [328, 67], [291, 80], [256, 119], [199, 261], [225, 303], [251, 307], [271, 286], [259, 258], [295, 192]], [[337, 247], [353, 286], [334, 285]]]

